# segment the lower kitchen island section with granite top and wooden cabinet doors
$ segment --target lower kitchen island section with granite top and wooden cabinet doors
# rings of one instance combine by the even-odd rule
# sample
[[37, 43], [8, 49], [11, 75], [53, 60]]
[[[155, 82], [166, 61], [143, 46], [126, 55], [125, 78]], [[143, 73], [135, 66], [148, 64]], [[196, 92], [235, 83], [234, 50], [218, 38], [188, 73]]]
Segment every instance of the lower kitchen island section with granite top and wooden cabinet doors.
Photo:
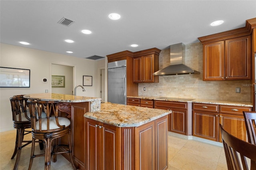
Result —
[[172, 111], [102, 103], [84, 114], [85, 169], [166, 170]]

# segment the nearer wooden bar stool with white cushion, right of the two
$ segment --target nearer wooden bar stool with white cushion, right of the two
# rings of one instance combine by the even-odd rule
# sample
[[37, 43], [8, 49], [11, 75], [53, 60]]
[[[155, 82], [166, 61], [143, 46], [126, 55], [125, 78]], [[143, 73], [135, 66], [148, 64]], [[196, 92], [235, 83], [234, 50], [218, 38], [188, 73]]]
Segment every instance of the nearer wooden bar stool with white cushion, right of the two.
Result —
[[[32, 128], [32, 148], [31, 157], [28, 169], [31, 169], [33, 158], [38, 156], [45, 156], [45, 170], [50, 170], [51, 156], [56, 154], [68, 153], [70, 156], [70, 163], [74, 170], [76, 167], [72, 159], [72, 147], [70, 138], [70, 120], [65, 117], [58, 117], [58, 101], [33, 101], [28, 100], [28, 107], [31, 117]], [[42, 119], [41, 114], [45, 109], [46, 118]], [[38, 119], [36, 119], [36, 113]], [[51, 117], [53, 115], [53, 117]], [[64, 135], [68, 135], [68, 145], [56, 145], [56, 139]], [[35, 140], [40, 139], [44, 141], [45, 154], [34, 154]], [[52, 143], [54, 144], [52, 148]], [[60, 152], [57, 152], [62, 148]]]

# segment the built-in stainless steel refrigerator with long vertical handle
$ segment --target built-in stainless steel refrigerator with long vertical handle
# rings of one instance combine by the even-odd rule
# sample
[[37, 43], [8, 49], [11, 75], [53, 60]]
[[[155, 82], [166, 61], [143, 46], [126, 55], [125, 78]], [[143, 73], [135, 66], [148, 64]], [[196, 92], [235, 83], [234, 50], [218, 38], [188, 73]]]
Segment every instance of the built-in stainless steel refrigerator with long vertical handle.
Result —
[[108, 101], [126, 105], [126, 60], [108, 63]]

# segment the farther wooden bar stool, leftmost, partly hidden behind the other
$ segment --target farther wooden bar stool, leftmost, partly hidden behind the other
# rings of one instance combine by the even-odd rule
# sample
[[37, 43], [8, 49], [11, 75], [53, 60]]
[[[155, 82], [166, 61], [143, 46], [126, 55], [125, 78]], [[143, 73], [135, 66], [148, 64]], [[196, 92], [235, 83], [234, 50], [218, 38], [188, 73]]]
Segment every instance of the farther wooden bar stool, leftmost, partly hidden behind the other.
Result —
[[[14, 152], [12, 154], [13, 159], [16, 155], [16, 162], [14, 164], [14, 170], [18, 168], [20, 162], [21, 149], [32, 142], [32, 140], [24, 140], [26, 134], [30, 134], [31, 130], [26, 130], [31, 128], [30, 113], [27, 107], [27, 99], [23, 97], [24, 95], [14, 95], [10, 98], [12, 107], [12, 121], [13, 127], [16, 128], [16, 142]], [[43, 117], [46, 117], [45, 113]], [[22, 145], [22, 143], [25, 143]], [[40, 150], [43, 149], [42, 142], [39, 143]]]

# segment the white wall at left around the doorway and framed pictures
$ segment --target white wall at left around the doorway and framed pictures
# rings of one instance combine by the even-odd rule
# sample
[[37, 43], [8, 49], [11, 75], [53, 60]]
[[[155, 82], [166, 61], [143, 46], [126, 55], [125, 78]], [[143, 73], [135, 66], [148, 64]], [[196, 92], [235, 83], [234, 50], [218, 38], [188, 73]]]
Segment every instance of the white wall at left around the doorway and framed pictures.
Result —
[[[30, 88], [0, 88], [0, 132], [13, 130], [12, 111], [9, 98], [18, 94], [51, 92], [51, 65], [73, 65], [75, 68], [74, 85], [82, 85], [83, 75], [93, 77], [92, 85], [85, 86], [85, 92], [77, 91], [77, 95], [98, 97], [97, 61], [83, 59], [0, 43], [0, 66], [30, 69]], [[48, 79], [47, 83], [42, 81]]]

